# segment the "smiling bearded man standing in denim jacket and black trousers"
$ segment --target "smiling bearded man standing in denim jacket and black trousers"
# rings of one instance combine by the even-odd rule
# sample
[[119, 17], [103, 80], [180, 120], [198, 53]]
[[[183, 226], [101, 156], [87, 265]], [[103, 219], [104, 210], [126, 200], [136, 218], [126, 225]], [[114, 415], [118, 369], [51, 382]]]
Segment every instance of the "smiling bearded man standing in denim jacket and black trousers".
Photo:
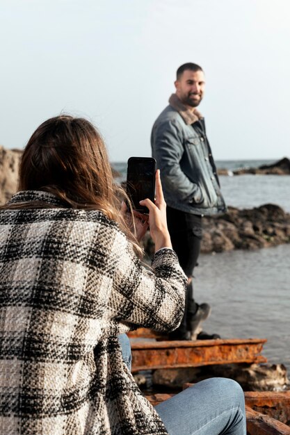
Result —
[[175, 94], [154, 123], [152, 155], [161, 170], [167, 203], [168, 229], [173, 249], [188, 277], [186, 309], [172, 339], [219, 338], [202, 332], [200, 323], [209, 317], [209, 304], [193, 299], [192, 275], [200, 254], [202, 216], [226, 210], [216, 165], [205, 131], [204, 118], [196, 109], [204, 96], [204, 72], [195, 63], [177, 69]]

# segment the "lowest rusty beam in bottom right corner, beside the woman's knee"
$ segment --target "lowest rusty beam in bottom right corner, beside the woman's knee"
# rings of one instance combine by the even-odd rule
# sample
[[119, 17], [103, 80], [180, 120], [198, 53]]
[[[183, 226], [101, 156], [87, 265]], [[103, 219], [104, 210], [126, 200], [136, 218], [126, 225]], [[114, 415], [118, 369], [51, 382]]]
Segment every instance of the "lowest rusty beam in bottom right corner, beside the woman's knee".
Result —
[[249, 435], [290, 435], [290, 427], [275, 418], [245, 407], [247, 433]]

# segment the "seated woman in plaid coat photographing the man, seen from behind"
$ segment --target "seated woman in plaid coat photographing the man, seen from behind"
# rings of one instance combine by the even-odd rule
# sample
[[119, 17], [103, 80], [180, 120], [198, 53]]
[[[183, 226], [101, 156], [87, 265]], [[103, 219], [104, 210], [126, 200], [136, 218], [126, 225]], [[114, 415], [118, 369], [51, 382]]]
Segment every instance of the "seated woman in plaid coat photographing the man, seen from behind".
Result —
[[[157, 413], [122, 361], [120, 334], [179, 325], [186, 277], [171, 249], [159, 172], [155, 204], [141, 202], [156, 247], [152, 270], [138, 258], [148, 223], [136, 219], [134, 235], [119, 197], [90, 122], [61, 115], [33, 133], [19, 192], [0, 212], [1, 433], [244, 434], [234, 381], [201, 382]], [[221, 389], [228, 393], [217, 410]]]

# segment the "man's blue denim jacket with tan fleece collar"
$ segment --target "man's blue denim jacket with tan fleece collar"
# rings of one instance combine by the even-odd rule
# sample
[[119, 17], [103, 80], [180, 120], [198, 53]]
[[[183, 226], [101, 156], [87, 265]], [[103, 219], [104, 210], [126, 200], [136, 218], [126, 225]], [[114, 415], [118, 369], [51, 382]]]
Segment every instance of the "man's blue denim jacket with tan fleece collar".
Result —
[[152, 156], [160, 169], [168, 206], [195, 215], [226, 210], [204, 119], [191, 113], [173, 94], [156, 119], [151, 135]]

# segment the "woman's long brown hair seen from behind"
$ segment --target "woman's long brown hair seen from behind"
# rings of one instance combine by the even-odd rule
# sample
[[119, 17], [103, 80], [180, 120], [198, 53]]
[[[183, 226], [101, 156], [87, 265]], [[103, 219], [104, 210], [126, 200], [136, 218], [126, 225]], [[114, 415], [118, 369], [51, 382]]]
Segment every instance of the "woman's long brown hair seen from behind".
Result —
[[73, 208], [102, 211], [118, 222], [141, 255], [120, 213], [127, 195], [114, 182], [104, 140], [88, 120], [60, 115], [35, 130], [19, 166], [19, 190], [45, 190]]

